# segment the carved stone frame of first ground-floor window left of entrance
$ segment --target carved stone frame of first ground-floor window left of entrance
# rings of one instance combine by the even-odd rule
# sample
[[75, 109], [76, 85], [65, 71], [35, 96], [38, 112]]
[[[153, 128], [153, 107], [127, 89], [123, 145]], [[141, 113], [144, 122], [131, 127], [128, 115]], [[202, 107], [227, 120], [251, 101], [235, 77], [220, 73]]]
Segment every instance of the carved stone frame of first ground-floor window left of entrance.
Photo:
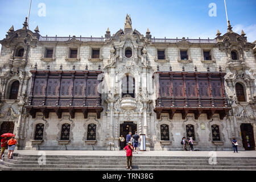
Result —
[[[88, 125], [89, 124], [95, 124], [96, 125], [96, 140], [88, 140], [87, 139], [87, 133], [88, 133]], [[96, 144], [97, 141], [100, 140], [99, 136], [99, 128], [101, 127], [100, 121], [96, 119], [96, 117], [88, 117], [88, 119], [85, 121], [84, 125], [85, 133], [82, 140], [84, 140], [85, 144]]]

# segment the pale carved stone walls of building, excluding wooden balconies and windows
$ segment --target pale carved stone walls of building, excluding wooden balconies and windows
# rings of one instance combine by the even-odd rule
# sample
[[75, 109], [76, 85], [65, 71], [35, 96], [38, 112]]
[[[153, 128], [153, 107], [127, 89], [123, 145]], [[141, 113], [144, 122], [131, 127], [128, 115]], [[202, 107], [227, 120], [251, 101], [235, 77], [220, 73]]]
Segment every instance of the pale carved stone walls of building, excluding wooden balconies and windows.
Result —
[[[3, 122], [14, 122], [14, 134], [18, 139], [20, 150], [119, 150], [118, 138], [120, 125], [133, 122], [137, 125], [139, 134], [146, 134], [147, 150], [182, 150], [181, 138], [186, 137], [186, 126], [194, 126], [195, 149], [198, 150], [232, 150], [230, 140], [236, 137], [239, 150], [242, 147], [241, 124], [249, 123], [253, 127], [256, 141], [256, 88], [255, 88], [255, 44], [247, 42], [245, 34], [236, 34], [232, 27], [221, 36], [218, 32], [215, 39], [153, 39], [150, 31], [146, 36], [133, 30], [130, 17], [126, 17], [124, 30], [119, 30], [113, 36], [109, 29], [105, 38], [59, 38], [43, 37], [38, 27], [35, 32], [27, 29], [26, 21], [23, 28], [14, 31], [10, 28], [6, 38], [1, 40], [0, 78], [1, 103], [0, 126]], [[16, 51], [24, 48], [23, 56], [16, 56]], [[52, 48], [51, 58], [45, 56], [46, 49]], [[77, 49], [77, 57], [70, 58], [72, 48]], [[100, 51], [98, 58], [92, 57], [94, 49]], [[131, 57], [126, 57], [130, 49]], [[187, 51], [188, 59], [181, 59], [180, 51]], [[158, 59], [158, 51], [164, 51], [164, 59]], [[210, 60], [204, 60], [204, 51], [209, 51]], [[232, 59], [232, 51], [237, 59]], [[46, 118], [43, 113], [36, 113], [32, 118], [26, 109], [31, 88], [31, 70], [98, 70], [104, 72], [104, 89], [101, 89], [101, 105], [103, 111], [100, 118], [96, 113], [88, 113], [84, 118], [82, 113], [76, 113], [71, 118], [69, 113], [63, 113], [58, 118], [55, 113], [49, 113]], [[232, 107], [224, 119], [213, 114], [210, 119], [207, 114], [201, 114], [198, 119], [188, 113], [182, 119], [180, 113], [175, 113], [172, 119], [166, 113], [156, 118], [156, 88], [152, 76], [160, 71], [218, 72], [219, 67], [225, 72], [225, 92], [228, 104]], [[127, 74], [134, 78], [135, 97], [122, 96], [122, 79]], [[9, 98], [11, 84], [19, 81], [19, 92], [16, 100]], [[245, 92], [245, 101], [236, 97], [236, 84], [240, 83]], [[102, 85], [101, 85], [102, 86]], [[43, 138], [35, 140], [36, 124], [43, 123]], [[69, 140], [61, 140], [61, 126], [70, 126]], [[96, 125], [96, 139], [88, 139], [88, 126]], [[160, 126], [168, 125], [169, 140], [161, 139]], [[218, 125], [220, 140], [213, 141], [212, 125]], [[110, 146], [110, 143], [112, 146]], [[255, 142], [254, 142], [255, 146]], [[255, 149], [255, 148], [254, 148]]]

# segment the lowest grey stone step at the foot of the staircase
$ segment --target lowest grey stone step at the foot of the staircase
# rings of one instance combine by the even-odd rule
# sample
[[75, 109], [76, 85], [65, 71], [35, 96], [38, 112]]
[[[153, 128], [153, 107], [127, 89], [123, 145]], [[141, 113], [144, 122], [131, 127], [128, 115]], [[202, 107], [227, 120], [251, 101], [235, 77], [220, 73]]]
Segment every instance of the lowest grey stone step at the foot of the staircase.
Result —
[[[13, 164], [9, 162], [1, 162], [1, 165], [11, 167], [11, 168], [105, 168], [108, 170], [109, 168], [125, 168], [126, 165], [63, 165], [63, 164]], [[189, 166], [189, 165], [133, 165], [133, 168], [137, 169], [148, 169], [148, 168], [158, 168], [158, 169], [253, 169], [256, 170], [256, 166]]]

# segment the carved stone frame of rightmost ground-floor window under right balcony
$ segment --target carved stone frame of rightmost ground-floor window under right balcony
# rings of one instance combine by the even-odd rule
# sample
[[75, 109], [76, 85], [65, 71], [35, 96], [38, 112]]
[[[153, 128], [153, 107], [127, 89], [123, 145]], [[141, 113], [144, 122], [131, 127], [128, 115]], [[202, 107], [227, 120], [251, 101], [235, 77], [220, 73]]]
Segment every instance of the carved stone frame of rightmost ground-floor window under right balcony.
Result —
[[[220, 140], [219, 141], [213, 141], [212, 139], [212, 125], [218, 125], [218, 129], [220, 131]], [[222, 122], [220, 122], [220, 118], [212, 118], [212, 121], [208, 122], [208, 129], [210, 130], [209, 133], [209, 142], [212, 141], [215, 145], [223, 145], [225, 141], [225, 136], [223, 134], [224, 131], [224, 125]]]

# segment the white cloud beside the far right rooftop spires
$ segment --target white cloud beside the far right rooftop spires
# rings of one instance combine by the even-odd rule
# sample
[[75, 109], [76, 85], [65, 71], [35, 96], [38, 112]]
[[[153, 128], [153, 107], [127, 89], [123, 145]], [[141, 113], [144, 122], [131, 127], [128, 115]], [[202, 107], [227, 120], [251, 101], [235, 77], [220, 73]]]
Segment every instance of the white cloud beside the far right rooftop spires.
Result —
[[236, 24], [233, 27], [233, 31], [237, 34], [241, 34], [241, 31], [245, 32], [247, 36], [247, 41], [253, 43], [256, 40], [256, 24], [251, 24], [250, 26], [244, 26], [243, 24]]

